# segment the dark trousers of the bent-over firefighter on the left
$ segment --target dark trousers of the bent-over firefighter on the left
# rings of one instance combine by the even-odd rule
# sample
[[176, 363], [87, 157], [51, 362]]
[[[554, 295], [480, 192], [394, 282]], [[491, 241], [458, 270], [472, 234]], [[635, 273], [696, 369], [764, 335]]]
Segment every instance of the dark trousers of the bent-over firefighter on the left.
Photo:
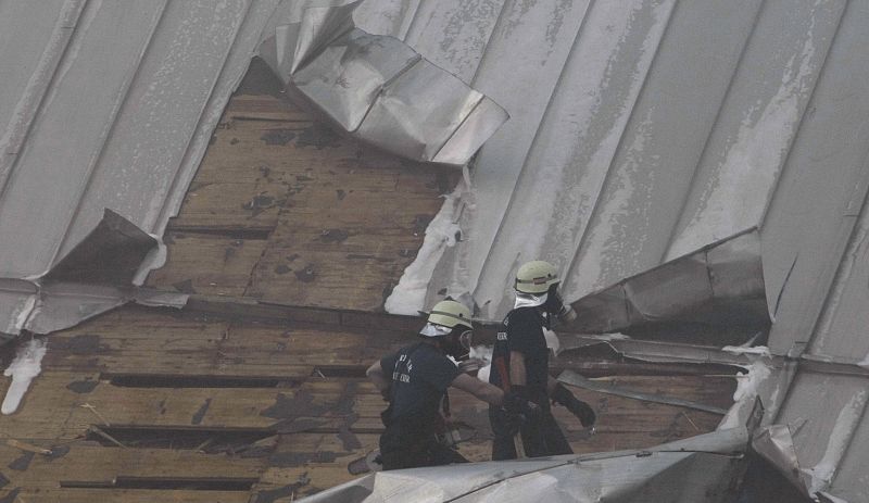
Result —
[[438, 443], [434, 433], [395, 426], [388, 427], [380, 437], [380, 460], [385, 470], [468, 462], [454, 449]]

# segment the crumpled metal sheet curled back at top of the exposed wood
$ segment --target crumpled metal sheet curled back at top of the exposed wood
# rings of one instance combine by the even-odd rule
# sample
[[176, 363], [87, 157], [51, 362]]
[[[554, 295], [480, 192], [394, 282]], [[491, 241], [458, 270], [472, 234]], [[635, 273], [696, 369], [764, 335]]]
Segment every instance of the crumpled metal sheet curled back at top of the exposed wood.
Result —
[[279, 11], [260, 55], [329, 120], [415, 161], [464, 165], [507, 120], [504, 109], [395, 38], [353, 25], [360, 1]]

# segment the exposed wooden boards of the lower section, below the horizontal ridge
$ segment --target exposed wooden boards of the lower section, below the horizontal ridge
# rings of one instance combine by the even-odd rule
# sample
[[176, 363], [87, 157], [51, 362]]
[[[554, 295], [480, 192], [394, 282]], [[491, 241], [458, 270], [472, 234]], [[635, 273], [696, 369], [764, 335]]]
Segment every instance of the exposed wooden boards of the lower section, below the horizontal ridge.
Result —
[[[328, 312], [310, 314], [324, 319]], [[21, 501], [290, 501], [293, 493], [350, 480], [348, 463], [374, 449], [381, 431], [383, 403], [364, 369], [412, 337], [335, 319], [221, 318], [135, 306], [106, 314], [51, 336], [43, 374], [21, 410], [0, 418], [3, 441], [54, 452], [0, 443], [0, 473], [9, 479], [0, 494], [20, 489]], [[718, 406], [728, 405], [733, 386], [720, 377], [614, 378]], [[719, 419], [575, 392], [600, 414], [597, 435], [584, 440], [578, 422], [555, 408], [577, 452], [654, 445], [708, 431]], [[486, 406], [461, 392], [451, 395], [454, 417], [467, 425], [463, 433], [473, 436], [462, 453], [488, 460]], [[265, 495], [257, 500], [257, 493]]]

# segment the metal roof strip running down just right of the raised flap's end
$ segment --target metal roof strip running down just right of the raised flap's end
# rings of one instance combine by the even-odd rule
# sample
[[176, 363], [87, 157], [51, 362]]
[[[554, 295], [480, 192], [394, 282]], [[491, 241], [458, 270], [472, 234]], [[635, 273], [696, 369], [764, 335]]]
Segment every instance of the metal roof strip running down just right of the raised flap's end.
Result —
[[[867, 20], [869, 5], [846, 5], [808, 105], [810, 120], [801, 124], [764, 216], [768, 293], [781, 290], [789, 257], [795, 252], [801, 256], [788, 288], [782, 290], [770, 334], [774, 354], [784, 354], [796, 340], [808, 340], [816, 329], [854, 231], [855, 219], [843, 215], [842, 201], [861, 201], [866, 194], [869, 100], [864, 83], [869, 76], [864, 64], [867, 41], [862, 27]], [[854, 312], [851, 307], [847, 311]], [[844, 313], [841, 311], [840, 316]]]

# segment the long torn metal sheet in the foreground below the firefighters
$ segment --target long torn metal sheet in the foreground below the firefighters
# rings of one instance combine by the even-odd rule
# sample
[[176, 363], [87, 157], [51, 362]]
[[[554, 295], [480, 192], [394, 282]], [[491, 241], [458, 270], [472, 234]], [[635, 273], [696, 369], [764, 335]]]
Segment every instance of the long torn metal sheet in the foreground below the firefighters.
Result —
[[734, 498], [747, 442], [741, 427], [645, 451], [378, 471], [301, 501], [723, 503]]

